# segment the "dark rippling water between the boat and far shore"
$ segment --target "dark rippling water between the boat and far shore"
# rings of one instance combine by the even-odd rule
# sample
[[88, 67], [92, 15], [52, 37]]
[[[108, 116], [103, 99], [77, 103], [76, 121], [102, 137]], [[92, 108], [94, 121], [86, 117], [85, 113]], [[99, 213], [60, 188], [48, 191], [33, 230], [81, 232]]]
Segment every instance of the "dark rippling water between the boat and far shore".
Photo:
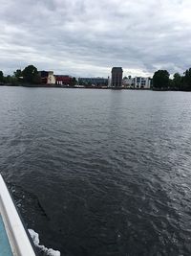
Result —
[[0, 152], [61, 255], [191, 255], [191, 93], [0, 87]]

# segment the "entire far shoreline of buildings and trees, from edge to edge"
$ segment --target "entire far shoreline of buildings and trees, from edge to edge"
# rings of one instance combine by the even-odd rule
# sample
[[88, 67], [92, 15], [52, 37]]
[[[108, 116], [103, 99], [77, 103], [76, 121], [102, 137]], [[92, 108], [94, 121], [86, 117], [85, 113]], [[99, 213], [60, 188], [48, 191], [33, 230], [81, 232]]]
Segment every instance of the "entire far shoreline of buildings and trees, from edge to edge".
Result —
[[41, 86], [63, 88], [99, 88], [99, 89], [153, 89], [191, 91], [191, 68], [183, 76], [175, 73], [173, 79], [167, 70], [158, 70], [153, 77], [124, 76], [122, 67], [113, 67], [108, 78], [74, 78], [69, 75], [55, 75], [53, 71], [38, 71], [33, 65], [23, 70], [17, 69], [12, 76], [4, 76], [0, 71], [0, 85]]

